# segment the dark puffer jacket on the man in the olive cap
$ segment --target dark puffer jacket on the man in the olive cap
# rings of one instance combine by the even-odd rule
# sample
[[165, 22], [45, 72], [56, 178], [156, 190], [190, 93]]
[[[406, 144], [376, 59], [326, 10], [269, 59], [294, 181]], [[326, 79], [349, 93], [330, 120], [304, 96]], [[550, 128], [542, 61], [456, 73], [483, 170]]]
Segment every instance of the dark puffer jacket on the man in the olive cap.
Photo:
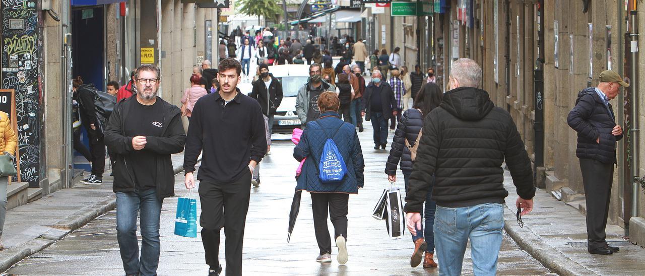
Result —
[[[611, 134], [616, 126], [613, 108], [611, 104], [606, 106], [603, 103], [593, 87], [579, 92], [567, 123], [578, 132], [578, 147], [575, 150], [578, 158], [594, 159], [606, 164], [616, 163], [616, 141], [622, 139], [622, 134]], [[600, 143], [596, 143], [598, 137]]]

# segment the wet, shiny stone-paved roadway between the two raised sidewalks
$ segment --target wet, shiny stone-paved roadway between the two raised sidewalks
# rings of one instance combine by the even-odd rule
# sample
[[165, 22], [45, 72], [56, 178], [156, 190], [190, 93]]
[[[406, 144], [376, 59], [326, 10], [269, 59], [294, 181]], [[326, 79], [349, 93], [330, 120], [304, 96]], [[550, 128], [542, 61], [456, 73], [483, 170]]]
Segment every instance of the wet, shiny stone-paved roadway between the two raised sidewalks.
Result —
[[[350, 195], [348, 252], [350, 259], [339, 265], [315, 262], [318, 247], [313, 233], [311, 199], [303, 193], [301, 210], [291, 242], [286, 242], [289, 208], [293, 197], [293, 178], [297, 162], [292, 157], [293, 143], [287, 135], [273, 135], [271, 155], [261, 163], [261, 185], [251, 188], [251, 201], [244, 239], [245, 275], [438, 275], [439, 270], [410, 268], [413, 244], [410, 233], [402, 239], [388, 237], [384, 221], [372, 218], [375, 201], [389, 185], [383, 173], [388, 155], [373, 150], [372, 128], [366, 122], [359, 133], [365, 158], [365, 188]], [[390, 133], [390, 141], [392, 133]], [[388, 147], [389, 150], [389, 147]], [[184, 195], [183, 173], [175, 177], [175, 194]], [[104, 185], [110, 185], [106, 183]], [[250, 185], [249, 185], [250, 186]], [[397, 186], [403, 187], [402, 181]], [[514, 195], [511, 193], [513, 201]], [[186, 238], [174, 235], [177, 198], [164, 201], [161, 213], [161, 259], [159, 275], [206, 275], [204, 249], [200, 235]], [[198, 204], [198, 215], [201, 213]], [[506, 212], [510, 212], [506, 210]], [[49, 248], [19, 262], [7, 275], [120, 275], [123, 273], [116, 239], [116, 212], [113, 210], [83, 228], [70, 233]], [[329, 223], [333, 233], [333, 226]], [[198, 225], [199, 231], [199, 225]], [[222, 235], [224, 238], [224, 235]], [[141, 239], [139, 237], [139, 239]], [[225, 238], [224, 238], [225, 239]], [[441, 256], [439, 256], [441, 257]], [[224, 241], [220, 260], [224, 265]], [[472, 274], [470, 250], [464, 256], [464, 275]], [[504, 233], [499, 252], [499, 275], [549, 275], [540, 262], [522, 251]]]

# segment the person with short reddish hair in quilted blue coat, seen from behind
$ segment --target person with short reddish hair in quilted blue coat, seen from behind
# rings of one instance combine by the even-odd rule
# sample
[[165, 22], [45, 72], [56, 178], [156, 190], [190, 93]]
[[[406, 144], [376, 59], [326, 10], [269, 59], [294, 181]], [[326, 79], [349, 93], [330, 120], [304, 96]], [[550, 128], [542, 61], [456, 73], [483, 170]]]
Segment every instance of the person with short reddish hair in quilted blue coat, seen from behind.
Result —
[[[332, 241], [327, 229], [327, 210], [332, 220], [338, 248], [338, 262], [347, 262], [347, 213], [350, 193], [358, 193], [363, 186], [364, 162], [356, 128], [345, 123], [338, 115], [340, 101], [334, 92], [323, 92], [318, 99], [321, 117], [307, 123], [300, 143], [293, 149], [297, 161], [306, 158], [296, 190], [312, 195], [313, 227], [320, 248], [317, 262], [332, 262]], [[327, 139], [332, 139], [347, 168], [342, 181], [323, 183], [319, 178], [318, 162]]]

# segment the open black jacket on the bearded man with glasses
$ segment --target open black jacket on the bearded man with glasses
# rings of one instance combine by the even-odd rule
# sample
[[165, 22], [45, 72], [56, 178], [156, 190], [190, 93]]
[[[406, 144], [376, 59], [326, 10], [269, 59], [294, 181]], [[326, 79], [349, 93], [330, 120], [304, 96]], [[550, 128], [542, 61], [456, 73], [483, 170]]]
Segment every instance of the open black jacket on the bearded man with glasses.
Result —
[[[119, 102], [115, 107], [108, 126], [105, 130], [105, 144], [108, 150], [114, 153], [114, 192], [133, 192], [135, 190], [134, 172], [129, 155], [134, 151], [132, 148], [132, 138], [124, 135], [123, 126], [125, 120], [136, 118], [128, 117], [128, 106], [137, 101], [137, 96], [133, 95]], [[177, 106], [170, 104], [157, 97], [157, 101], [162, 101], [164, 107], [163, 137], [146, 137], [146, 146], [142, 150], [148, 150], [157, 154], [154, 161], [157, 167], [157, 197], [172, 197], [175, 195], [175, 173], [172, 166], [172, 153], [179, 153], [184, 150], [186, 143], [186, 133], [181, 123], [181, 111]]]

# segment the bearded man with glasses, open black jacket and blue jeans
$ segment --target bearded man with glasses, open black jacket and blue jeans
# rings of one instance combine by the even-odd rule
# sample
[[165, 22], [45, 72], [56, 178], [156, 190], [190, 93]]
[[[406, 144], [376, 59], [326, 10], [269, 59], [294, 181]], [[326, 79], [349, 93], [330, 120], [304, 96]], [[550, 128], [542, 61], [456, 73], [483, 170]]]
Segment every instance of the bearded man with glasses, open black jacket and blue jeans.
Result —
[[[159, 266], [159, 218], [165, 197], [175, 195], [170, 155], [182, 152], [186, 139], [177, 106], [157, 97], [157, 66], [137, 68], [137, 94], [119, 102], [105, 130], [115, 155], [113, 190], [117, 195], [117, 241], [126, 275], [156, 275]], [[137, 244], [141, 218], [141, 257]]]

